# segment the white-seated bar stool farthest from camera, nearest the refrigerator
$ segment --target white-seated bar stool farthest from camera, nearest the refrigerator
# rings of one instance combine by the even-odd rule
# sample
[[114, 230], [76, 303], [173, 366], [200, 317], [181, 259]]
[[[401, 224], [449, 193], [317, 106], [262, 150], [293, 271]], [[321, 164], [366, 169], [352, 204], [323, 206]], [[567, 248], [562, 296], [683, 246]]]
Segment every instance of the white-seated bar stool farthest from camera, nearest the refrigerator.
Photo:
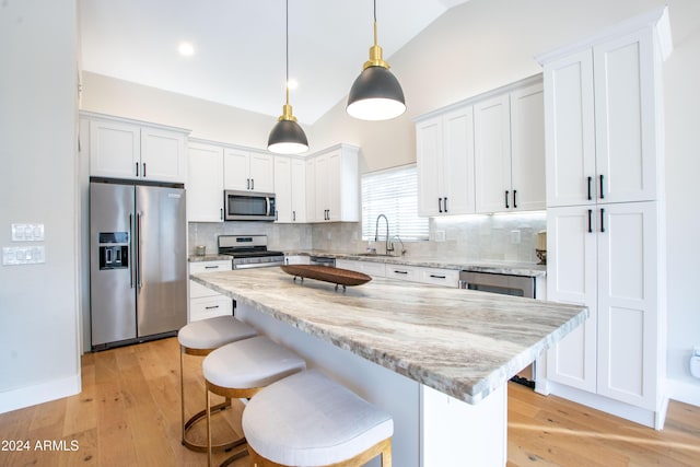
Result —
[[[209, 319], [192, 322], [183, 326], [177, 332], [179, 341], [179, 398], [182, 410], [182, 442], [185, 447], [191, 451], [203, 453], [208, 450], [206, 444], [197, 444], [187, 439], [187, 432], [207, 416], [207, 410], [200, 410], [185, 421], [185, 383], [183, 377], [183, 359], [185, 354], [205, 357], [223, 345], [237, 340], [248, 339], [257, 332], [250, 326], [234, 318], [231, 315], [217, 316]], [[231, 399], [217, 405], [214, 411], [224, 410], [231, 406]], [[213, 446], [215, 451], [230, 450], [235, 446], [235, 441]]]

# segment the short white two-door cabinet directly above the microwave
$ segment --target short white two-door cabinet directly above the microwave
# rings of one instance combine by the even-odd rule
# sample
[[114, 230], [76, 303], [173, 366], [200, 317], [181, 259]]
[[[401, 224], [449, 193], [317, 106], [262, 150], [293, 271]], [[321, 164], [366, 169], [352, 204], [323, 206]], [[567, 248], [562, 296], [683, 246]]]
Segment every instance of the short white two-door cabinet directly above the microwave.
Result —
[[225, 148], [224, 188], [275, 192], [275, 156], [240, 148]]

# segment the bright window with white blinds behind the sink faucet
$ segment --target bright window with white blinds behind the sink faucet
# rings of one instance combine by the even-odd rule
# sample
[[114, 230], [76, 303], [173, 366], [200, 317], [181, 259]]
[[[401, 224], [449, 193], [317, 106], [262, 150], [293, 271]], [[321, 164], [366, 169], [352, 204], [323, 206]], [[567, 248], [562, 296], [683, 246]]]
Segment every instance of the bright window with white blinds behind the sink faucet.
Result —
[[[389, 236], [428, 240], [428, 218], [418, 217], [418, 171], [415, 164], [362, 176], [362, 240], [374, 240], [376, 220], [386, 215]], [[380, 238], [386, 224], [380, 222]]]

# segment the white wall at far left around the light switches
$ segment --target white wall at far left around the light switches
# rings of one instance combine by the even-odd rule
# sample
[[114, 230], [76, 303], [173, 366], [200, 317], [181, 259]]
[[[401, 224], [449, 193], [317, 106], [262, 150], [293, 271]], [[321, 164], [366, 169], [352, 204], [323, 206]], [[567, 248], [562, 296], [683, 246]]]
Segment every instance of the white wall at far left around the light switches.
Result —
[[75, 0], [0, 4], [0, 245], [43, 223], [46, 248], [0, 266], [0, 412], [80, 392], [75, 28]]

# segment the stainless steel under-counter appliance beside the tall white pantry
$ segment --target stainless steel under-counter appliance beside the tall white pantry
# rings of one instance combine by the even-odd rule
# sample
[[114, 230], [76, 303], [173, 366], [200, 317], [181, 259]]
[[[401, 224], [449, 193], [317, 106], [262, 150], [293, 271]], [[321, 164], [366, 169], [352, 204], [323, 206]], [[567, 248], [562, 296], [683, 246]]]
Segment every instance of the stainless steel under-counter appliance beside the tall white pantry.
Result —
[[[502, 295], [536, 299], [535, 278], [527, 276], [498, 275], [491, 272], [459, 272], [459, 288], [500, 293]], [[511, 381], [528, 387], [535, 387], [537, 361], [521, 370]]]

